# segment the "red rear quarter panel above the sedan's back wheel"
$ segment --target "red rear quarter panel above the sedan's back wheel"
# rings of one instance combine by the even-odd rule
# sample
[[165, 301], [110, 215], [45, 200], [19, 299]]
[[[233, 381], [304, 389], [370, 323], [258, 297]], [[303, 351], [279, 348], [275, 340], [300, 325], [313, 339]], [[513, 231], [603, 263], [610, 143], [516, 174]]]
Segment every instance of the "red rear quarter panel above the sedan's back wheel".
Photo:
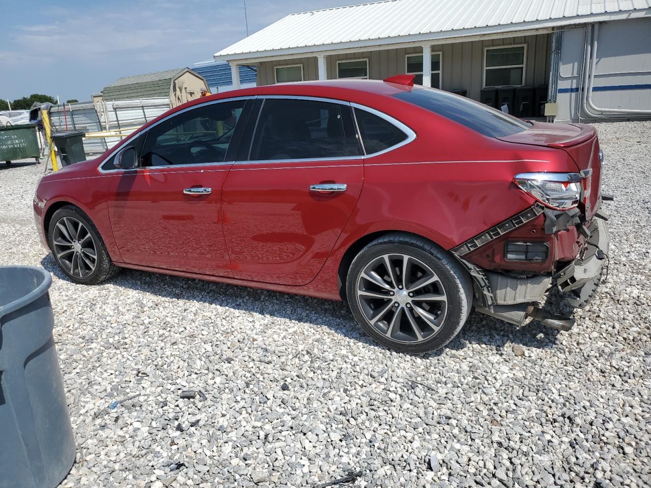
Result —
[[331, 289], [346, 250], [368, 234], [411, 232], [449, 250], [534, 204], [512, 182], [519, 172], [575, 170], [563, 150], [499, 141], [419, 107], [372, 102], [417, 137], [365, 158], [357, 207], [310, 288]]

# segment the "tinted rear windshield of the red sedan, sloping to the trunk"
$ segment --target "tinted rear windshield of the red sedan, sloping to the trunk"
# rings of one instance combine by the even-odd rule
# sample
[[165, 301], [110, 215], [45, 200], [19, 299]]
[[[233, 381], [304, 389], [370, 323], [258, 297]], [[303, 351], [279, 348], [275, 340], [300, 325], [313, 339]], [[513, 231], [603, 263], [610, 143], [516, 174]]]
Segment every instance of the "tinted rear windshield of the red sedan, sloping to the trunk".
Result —
[[492, 107], [441, 90], [416, 88], [394, 96], [454, 120], [488, 137], [505, 137], [529, 128], [526, 122], [512, 118]]

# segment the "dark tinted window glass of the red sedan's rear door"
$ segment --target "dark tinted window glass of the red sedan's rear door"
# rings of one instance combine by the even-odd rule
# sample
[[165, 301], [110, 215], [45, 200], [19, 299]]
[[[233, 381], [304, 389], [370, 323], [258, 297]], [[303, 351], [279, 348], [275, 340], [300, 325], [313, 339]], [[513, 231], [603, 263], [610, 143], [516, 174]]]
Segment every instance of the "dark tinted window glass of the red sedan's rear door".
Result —
[[359, 156], [355, 135], [346, 130], [350, 107], [316, 100], [269, 98], [262, 105], [251, 160]]

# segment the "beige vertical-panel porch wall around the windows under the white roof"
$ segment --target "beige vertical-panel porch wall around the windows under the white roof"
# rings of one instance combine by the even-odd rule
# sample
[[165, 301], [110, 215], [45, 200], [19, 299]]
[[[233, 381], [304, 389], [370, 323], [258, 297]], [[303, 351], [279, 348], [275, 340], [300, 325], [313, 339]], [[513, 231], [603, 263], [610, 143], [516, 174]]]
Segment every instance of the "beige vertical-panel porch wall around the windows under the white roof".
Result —
[[[490, 39], [452, 44], [433, 44], [432, 52], [441, 51], [441, 88], [453, 90], [464, 88], [468, 96], [477, 100], [483, 84], [484, 47], [506, 46], [510, 44], [527, 45], [525, 85], [547, 83], [549, 75], [549, 50], [551, 34], [536, 36]], [[368, 59], [369, 76], [372, 79], [385, 79], [406, 72], [406, 56], [421, 53], [420, 47], [383, 49], [381, 51], [360, 51], [326, 57], [328, 79], [337, 78], [337, 61], [342, 59]], [[316, 57], [284, 59], [282, 61], [261, 62], [258, 67], [258, 85], [271, 85], [274, 80], [274, 66], [303, 64], [305, 81], [318, 79]]]

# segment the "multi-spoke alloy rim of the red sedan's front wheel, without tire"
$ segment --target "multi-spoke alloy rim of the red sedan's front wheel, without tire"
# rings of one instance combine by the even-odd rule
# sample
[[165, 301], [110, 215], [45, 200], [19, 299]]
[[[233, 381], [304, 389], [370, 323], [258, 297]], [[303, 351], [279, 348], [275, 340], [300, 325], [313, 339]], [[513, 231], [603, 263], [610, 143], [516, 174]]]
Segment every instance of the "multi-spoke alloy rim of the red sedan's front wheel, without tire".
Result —
[[77, 278], [89, 277], [97, 265], [97, 250], [85, 224], [73, 217], [62, 217], [54, 226], [53, 251], [57, 261]]

